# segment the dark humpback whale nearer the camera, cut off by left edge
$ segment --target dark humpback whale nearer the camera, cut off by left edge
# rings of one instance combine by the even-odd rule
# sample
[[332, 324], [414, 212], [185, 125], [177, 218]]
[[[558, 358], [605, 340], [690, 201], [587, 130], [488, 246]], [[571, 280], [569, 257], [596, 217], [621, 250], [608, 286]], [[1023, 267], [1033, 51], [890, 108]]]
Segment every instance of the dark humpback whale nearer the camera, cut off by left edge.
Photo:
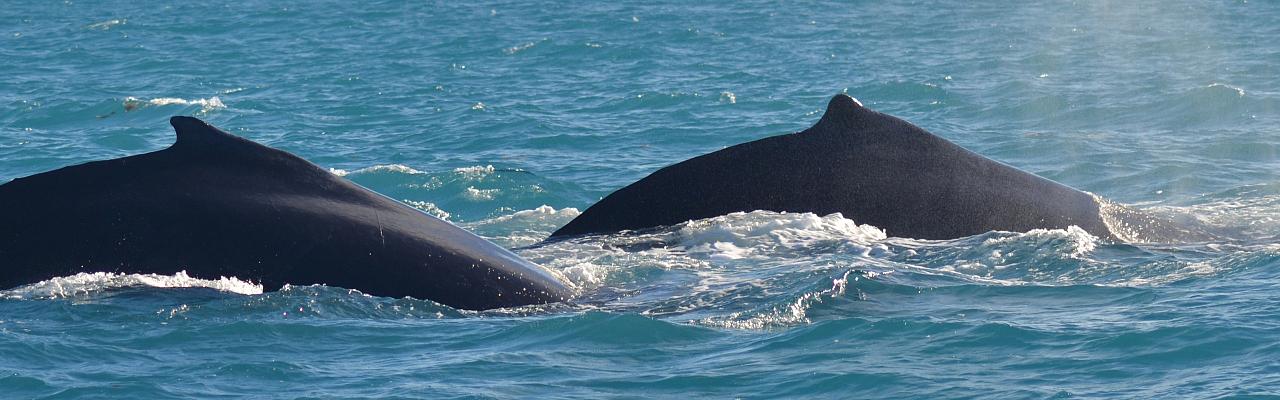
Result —
[[0, 288], [186, 271], [477, 310], [571, 296], [554, 273], [293, 154], [170, 123], [168, 149], [0, 185]]

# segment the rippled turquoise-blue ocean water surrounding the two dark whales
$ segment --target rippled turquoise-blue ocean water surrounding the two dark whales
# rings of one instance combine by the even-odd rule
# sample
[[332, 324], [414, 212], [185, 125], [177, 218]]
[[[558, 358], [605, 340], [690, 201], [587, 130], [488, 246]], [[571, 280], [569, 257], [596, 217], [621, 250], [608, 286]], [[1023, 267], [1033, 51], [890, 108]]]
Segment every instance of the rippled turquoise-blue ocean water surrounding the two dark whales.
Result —
[[[579, 296], [477, 313], [55, 278], [0, 291], [0, 397], [1277, 396], [1276, 21], [1272, 1], [1189, 0], [9, 1], [0, 182], [163, 149], [168, 118], [196, 115]], [[754, 212], [540, 244], [657, 168], [810, 126], [838, 92], [1233, 237], [925, 241]]]

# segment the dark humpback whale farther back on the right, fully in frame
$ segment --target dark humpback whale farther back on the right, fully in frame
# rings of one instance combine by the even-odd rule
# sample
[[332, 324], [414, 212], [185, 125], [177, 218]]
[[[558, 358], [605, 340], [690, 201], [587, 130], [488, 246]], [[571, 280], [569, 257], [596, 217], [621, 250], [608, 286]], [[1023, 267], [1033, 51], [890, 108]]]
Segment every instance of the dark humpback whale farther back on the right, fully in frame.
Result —
[[1071, 226], [1107, 240], [1207, 237], [965, 150], [841, 94], [805, 131], [662, 168], [605, 196], [550, 238], [751, 210], [841, 213], [890, 236], [929, 240]]

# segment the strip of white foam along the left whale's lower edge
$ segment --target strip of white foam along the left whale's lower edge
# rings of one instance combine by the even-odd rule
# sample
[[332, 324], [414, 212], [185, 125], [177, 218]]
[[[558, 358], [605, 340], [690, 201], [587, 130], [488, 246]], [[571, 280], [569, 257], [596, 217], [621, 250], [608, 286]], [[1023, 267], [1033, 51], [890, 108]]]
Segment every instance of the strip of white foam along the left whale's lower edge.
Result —
[[60, 299], [129, 286], [207, 287], [242, 295], [262, 294], [262, 285], [242, 281], [236, 277], [220, 277], [218, 279], [192, 278], [186, 271], [182, 271], [172, 276], [154, 273], [125, 274], [111, 272], [82, 272], [73, 276], [58, 277], [0, 291], [0, 296], [9, 299]]

